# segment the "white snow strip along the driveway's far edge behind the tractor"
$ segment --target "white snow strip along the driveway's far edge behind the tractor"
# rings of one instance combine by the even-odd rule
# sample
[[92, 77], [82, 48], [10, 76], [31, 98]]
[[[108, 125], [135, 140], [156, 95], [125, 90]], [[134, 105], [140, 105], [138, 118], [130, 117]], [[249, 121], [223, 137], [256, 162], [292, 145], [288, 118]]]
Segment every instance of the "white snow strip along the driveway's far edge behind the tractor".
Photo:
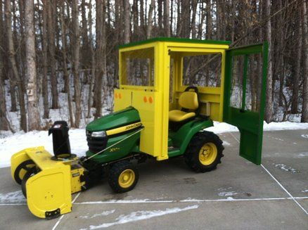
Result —
[[[290, 129], [308, 129], [308, 123], [295, 122], [264, 122], [264, 130], [290, 130]], [[214, 127], [205, 129], [214, 133], [238, 132], [238, 128], [224, 122], [214, 122]], [[78, 156], [85, 155], [88, 146], [86, 144], [86, 133], [84, 129], [70, 129], [70, 146], [72, 153]], [[303, 136], [304, 138], [306, 136]], [[225, 143], [227, 144], [227, 143]], [[9, 167], [11, 165], [11, 155], [34, 146], [44, 146], [47, 151], [53, 153], [52, 137], [48, 136], [47, 131], [33, 132], [10, 132], [0, 131], [0, 167]]]

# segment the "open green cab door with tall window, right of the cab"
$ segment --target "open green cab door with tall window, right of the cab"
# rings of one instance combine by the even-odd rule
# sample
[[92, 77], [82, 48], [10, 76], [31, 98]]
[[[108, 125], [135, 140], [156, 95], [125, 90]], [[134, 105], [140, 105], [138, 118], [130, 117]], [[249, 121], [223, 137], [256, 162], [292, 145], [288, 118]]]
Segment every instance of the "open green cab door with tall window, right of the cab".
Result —
[[224, 122], [240, 130], [240, 156], [261, 164], [267, 42], [226, 51]]

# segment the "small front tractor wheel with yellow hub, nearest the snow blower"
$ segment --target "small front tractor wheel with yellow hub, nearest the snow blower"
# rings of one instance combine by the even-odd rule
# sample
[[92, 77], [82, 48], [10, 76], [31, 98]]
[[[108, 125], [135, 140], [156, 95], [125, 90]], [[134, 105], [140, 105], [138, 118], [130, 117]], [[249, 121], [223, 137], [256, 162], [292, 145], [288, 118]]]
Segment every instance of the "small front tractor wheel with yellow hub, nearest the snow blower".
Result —
[[131, 191], [139, 179], [139, 172], [129, 161], [116, 162], [109, 171], [108, 183], [116, 193]]

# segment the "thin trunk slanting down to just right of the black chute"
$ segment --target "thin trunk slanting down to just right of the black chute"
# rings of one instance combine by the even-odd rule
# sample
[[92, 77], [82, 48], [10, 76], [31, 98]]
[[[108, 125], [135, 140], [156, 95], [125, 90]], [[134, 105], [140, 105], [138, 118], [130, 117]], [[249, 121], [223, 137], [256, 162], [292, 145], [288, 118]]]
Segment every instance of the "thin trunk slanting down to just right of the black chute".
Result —
[[68, 86], [68, 90], [66, 93], [68, 94], [68, 115], [70, 117], [70, 126], [74, 127], [75, 122], [74, 122], [74, 115], [72, 113], [72, 97], [70, 95], [70, 75], [68, 73], [68, 58], [66, 55], [66, 50], [67, 50], [67, 40], [66, 40], [66, 25], [64, 21], [64, 14], [65, 14], [65, 6], [64, 6], [64, 1], [62, 3], [62, 8], [60, 9], [60, 25], [61, 25], [61, 41], [62, 41], [62, 54], [63, 54], [63, 75], [64, 75], [64, 80], [65, 80], [65, 85]]

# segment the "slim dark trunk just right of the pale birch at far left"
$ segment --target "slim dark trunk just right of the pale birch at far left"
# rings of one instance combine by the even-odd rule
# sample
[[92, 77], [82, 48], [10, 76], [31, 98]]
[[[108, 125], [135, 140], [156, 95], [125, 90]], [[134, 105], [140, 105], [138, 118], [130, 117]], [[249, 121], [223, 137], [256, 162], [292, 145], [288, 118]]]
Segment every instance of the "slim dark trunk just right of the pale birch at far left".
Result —
[[47, 0], [43, 1], [43, 27], [42, 27], [42, 39], [41, 46], [43, 49], [43, 80], [42, 84], [42, 95], [44, 103], [44, 118], [49, 118], [49, 89], [48, 89], [48, 36], [47, 36], [47, 20], [48, 20], [48, 3]]

